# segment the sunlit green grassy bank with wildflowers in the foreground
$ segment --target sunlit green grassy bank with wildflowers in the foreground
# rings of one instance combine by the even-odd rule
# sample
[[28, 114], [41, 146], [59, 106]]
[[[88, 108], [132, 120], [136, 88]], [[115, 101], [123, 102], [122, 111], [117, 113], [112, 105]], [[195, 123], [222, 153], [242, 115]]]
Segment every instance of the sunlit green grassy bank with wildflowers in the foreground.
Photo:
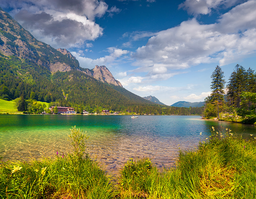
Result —
[[224, 131], [213, 128], [197, 150], [180, 151], [173, 170], [159, 172], [149, 159], [130, 159], [118, 183], [79, 150], [2, 163], [0, 198], [256, 198], [256, 139]]

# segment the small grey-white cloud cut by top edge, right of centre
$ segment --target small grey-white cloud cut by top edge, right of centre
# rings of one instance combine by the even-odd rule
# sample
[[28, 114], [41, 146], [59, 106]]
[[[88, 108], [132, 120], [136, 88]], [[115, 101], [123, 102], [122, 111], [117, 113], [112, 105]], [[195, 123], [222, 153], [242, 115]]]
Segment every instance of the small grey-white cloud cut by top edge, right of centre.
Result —
[[210, 14], [213, 9], [229, 8], [245, 0], [186, 0], [179, 5], [179, 9], [187, 10], [189, 14]]

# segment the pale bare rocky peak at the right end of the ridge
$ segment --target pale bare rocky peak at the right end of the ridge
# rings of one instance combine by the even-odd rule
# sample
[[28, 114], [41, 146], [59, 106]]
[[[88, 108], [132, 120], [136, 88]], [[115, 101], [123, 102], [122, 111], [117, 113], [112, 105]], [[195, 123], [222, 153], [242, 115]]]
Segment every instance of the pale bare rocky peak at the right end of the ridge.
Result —
[[92, 76], [101, 82], [123, 87], [119, 81], [115, 80], [106, 66], [96, 65], [95, 68], [92, 69]]

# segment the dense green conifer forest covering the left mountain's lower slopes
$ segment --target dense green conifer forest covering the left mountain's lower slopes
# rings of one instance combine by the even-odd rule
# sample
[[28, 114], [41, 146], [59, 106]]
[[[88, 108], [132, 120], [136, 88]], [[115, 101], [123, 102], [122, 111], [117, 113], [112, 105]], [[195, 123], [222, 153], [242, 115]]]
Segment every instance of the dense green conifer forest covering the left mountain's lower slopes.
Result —
[[[31, 109], [35, 101], [47, 102], [50, 106], [75, 107], [80, 113], [83, 110], [99, 113], [101, 109], [108, 109], [151, 115], [201, 115], [203, 111], [202, 107], [155, 104], [78, 70], [51, 74], [48, 68], [15, 56], [0, 54], [0, 74], [0, 98], [17, 99], [19, 111], [39, 113]], [[35, 106], [39, 106], [38, 103]]]

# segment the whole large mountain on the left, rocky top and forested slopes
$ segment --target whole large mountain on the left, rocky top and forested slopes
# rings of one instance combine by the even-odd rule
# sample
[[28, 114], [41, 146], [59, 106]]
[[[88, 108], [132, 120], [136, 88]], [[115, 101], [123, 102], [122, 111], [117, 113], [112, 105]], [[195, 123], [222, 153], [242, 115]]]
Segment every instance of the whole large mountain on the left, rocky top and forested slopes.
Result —
[[[101, 109], [138, 114], [190, 115], [191, 110], [164, 107], [122, 87], [106, 66], [81, 68], [66, 49], [36, 40], [0, 8], [0, 98], [23, 100], [24, 111], [38, 100], [76, 111]], [[200, 109], [193, 114], [200, 114]]]

